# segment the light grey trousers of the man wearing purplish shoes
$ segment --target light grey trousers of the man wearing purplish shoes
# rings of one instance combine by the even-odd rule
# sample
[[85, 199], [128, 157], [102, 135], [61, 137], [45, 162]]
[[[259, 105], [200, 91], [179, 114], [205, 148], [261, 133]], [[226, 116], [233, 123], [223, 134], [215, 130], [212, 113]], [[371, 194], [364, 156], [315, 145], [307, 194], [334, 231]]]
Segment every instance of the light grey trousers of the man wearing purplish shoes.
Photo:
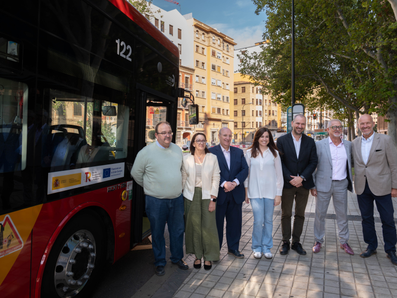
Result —
[[339, 229], [339, 241], [343, 244], [349, 240], [349, 226], [347, 221], [347, 179], [332, 181], [329, 192], [317, 191], [316, 217], [314, 220], [314, 237], [316, 241], [324, 242], [326, 232], [326, 216], [331, 197]]

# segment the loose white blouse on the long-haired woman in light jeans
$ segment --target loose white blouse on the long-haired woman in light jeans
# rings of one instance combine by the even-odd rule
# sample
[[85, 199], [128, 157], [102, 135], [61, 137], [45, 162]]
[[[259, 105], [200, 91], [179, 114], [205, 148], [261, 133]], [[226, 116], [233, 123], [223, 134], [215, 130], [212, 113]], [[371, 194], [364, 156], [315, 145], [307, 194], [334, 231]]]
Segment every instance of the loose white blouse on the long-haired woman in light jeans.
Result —
[[251, 150], [245, 154], [248, 166], [250, 167], [248, 177], [244, 181], [244, 187], [248, 187], [248, 198], [274, 199], [282, 195], [284, 179], [282, 176], [280, 155], [274, 157], [269, 149], [258, 153], [257, 157], [251, 157]]

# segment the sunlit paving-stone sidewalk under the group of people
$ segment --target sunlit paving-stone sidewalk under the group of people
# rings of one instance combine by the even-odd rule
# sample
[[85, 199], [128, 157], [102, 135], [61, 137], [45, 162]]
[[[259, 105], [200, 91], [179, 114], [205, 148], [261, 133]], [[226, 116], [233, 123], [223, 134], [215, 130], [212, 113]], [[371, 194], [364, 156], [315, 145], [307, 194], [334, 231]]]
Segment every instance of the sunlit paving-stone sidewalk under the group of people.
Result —
[[[397, 200], [393, 198], [394, 209]], [[332, 200], [326, 217], [326, 235], [319, 253], [312, 252], [314, 244], [314, 216], [316, 202], [309, 196], [305, 210], [305, 223], [301, 236], [307, 255], [290, 250], [280, 255], [282, 245], [281, 209], [273, 214], [273, 248], [270, 260], [254, 258], [251, 250], [253, 214], [251, 205], [243, 205], [243, 227], [240, 251], [245, 258], [236, 259], [227, 254], [224, 234], [220, 260], [213, 262], [212, 269], [193, 269], [195, 257], [186, 262], [191, 269], [186, 273], [175, 298], [397, 298], [397, 267], [383, 250], [382, 224], [374, 207], [378, 253], [370, 258], [359, 256], [367, 244], [363, 240], [361, 214], [355, 194], [348, 193], [349, 245], [354, 255], [348, 255], [339, 247], [338, 226]], [[294, 210], [294, 207], [293, 207]], [[294, 213], [293, 213], [294, 215]], [[395, 219], [397, 222], [397, 219]], [[293, 221], [291, 221], [292, 224]], [[225, 233], [225, 230], [224, 230]], [[178, 286], [181, 277], [169, 279]], [[168, 283], [168, 280], [167, 280]], [[168, 296], [167, 296], [168, 297]]]

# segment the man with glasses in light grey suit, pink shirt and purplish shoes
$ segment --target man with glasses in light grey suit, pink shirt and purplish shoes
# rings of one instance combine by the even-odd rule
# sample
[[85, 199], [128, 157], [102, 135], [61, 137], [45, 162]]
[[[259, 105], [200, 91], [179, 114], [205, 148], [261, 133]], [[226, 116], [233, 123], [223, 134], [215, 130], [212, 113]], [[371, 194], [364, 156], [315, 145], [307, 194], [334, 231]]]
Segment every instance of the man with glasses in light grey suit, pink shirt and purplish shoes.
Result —
[[316, 197], [316, 217], [313, 252], [320, 252], [326, 232], [326, 215], [331, 197], [339, 229], [340, 248], [350, 255], [354, 252], [347, 243], [349, 227], [347, 221], [347, 190], [353, 191], [351, 174], [351, 142], [342, 140], [343, 125], [332, 119], [327, 128], [329, 138], [316, 142], [317, 169], [313, 173], [315, 187], [310, 192]]

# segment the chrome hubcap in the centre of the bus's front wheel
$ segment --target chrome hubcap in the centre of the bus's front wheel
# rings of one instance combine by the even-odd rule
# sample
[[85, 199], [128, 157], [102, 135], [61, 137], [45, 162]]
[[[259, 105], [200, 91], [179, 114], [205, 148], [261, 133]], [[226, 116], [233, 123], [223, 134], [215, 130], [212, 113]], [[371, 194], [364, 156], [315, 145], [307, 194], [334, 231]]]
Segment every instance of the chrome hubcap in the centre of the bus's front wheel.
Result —
[[85, 286], [95, 265], [94, 236], [87, 230], [75, 232], [66, 241], [55, 267], [54, 282], [62, 298], [76, 296]]

